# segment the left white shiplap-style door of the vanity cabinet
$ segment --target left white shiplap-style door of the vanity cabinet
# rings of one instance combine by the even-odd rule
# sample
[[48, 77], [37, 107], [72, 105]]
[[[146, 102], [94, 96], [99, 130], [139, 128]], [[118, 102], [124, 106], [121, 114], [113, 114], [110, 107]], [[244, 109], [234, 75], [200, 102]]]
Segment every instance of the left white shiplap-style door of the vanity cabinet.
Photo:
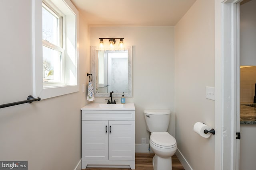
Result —
[[82, 159], [108, 159], [108, 121], [82, 121]]

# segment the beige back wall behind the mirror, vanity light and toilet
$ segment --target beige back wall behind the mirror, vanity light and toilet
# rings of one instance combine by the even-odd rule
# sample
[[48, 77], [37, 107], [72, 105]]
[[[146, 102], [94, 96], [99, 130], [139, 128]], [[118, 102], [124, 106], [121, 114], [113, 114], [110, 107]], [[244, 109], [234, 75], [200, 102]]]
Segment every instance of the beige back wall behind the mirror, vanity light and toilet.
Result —
[[[91, 27], [92, 46], [98, 46], [100, 37], [124, 37], [125, 45], [133, 46], [133, 97], [126, 98], [126, 102], [135, 104], [136, 146], [141, 144], [142, 137], [148, 143], [144, 109], [170, 109], [168, 132], [175, 136], [174, 27]], [[96, 98], [94, 102], [105, 102], [104, 99]], [[143, 148], [147, 152], [148, 146]]]

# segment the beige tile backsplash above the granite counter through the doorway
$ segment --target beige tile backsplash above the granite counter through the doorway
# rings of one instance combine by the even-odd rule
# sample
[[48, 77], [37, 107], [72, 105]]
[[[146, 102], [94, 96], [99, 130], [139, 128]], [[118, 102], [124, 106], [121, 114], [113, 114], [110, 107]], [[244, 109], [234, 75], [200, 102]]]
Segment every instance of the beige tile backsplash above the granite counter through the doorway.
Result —
[[240, 68], [240, 102], [253, 103], [256, 66]]

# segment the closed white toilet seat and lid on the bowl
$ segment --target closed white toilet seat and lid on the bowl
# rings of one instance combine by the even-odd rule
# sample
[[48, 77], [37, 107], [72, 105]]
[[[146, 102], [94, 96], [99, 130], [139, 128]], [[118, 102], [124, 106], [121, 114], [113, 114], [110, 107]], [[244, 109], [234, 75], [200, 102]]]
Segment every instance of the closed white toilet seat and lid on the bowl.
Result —
[[152, 132], [150, 141], [153, 145], [160, 148], [176, 147], [176, 139], [168, 132]]

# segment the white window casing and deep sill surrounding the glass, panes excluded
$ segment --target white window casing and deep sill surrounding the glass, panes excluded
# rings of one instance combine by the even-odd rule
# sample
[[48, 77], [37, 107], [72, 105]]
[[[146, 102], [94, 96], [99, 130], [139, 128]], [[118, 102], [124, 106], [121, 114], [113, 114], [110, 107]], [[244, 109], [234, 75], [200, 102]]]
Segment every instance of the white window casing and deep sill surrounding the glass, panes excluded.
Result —
[[[79, 91], [79, 53], [78, 53], [78, 10], [70, 0], [45, 0], [47, 4], [58, 6], [65, 15], [65, 27], [72, 27], [72, 31], [64, 31], [66, 37], [63, 39], [63, 46], [66, 55], [69, 57], [65, 62], [69, 74], [65, 84], [60, 86], [43, 86], [42, 74], [42, 0], [32, 1], [32, 56], [33, 56], [33, 94], [42, 100], [70, 94]], [[75, 26], [74, 26], [75, 25]], [[75, 33], [74, 33], [75, 32]], [[70, 78], [71, 77], [71, 78]]]

